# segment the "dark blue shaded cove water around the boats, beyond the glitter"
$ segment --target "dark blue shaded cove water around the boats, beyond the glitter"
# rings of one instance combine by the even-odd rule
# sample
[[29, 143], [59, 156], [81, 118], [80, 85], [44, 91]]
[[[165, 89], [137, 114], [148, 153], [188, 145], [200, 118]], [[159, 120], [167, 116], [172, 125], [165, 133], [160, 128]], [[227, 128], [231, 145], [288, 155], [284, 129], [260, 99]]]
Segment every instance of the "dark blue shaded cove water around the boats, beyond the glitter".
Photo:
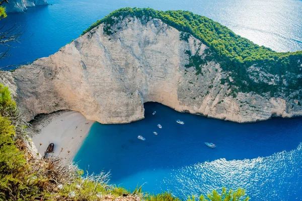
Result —
[[[145, 103], [145, 118], [129, 124], [95, 123], [74, 161], [89, 172], [111, 170], [114, 182], [142, 171], [177, 169], [205, 161], [254, 159], [296, 149], [302, 118], [234, 123]], [[153, 111], [157, 113], [152, 115]], [[176, 123], [176, 119], [185, 122]], [[163, 128], [157, 127], [162, 124]], [[153, 131], [159, 133], [158, 136]], [[141, 135], [146, 141], [140, 141]], [[215, 149], [204, 142], [217, 145]]]

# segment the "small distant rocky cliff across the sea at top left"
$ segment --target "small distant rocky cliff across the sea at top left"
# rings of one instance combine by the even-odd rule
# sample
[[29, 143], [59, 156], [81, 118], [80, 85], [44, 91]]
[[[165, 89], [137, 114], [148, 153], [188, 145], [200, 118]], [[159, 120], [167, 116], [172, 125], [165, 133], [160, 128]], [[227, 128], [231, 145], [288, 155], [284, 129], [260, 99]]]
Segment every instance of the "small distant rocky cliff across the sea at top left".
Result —
[[22, 13], [29, 7], [47, 5], [46, 0], [11, 0], [9, 3], [4, 3], [7, 13]]

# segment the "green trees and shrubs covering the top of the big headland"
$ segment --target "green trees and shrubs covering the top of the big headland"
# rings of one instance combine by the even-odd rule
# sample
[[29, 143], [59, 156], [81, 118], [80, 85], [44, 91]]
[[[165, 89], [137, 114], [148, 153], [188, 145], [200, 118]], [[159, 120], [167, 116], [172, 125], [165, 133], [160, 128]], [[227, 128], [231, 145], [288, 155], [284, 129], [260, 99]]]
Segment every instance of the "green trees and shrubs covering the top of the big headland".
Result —
[[[203, 64], [210, 60], [218, 62], [221, 68], [232, 76], [221, 80], [228, 83], [234, 93], [255, 92], [263, 94], [269, 92], [271, 96], [290, 94], [297, 90], [302, 97], [302, 51], [275, 52], [270, 48], [259, 46], [252, 41], [243, 38], [229, 28], [210, 20], [209, 18], [193, 14], [188, 11], [156, 11], [153, 9], [123, 8], [110, 13], [102, 20], [92, 24], [82, 35], [91, 31], [96, 26], [104, 23], [104, 33], [114, 34], [112, 26], [126, 17], [137, 17], [144, 20], [157, 18], [171, 27], [181, 31], [180, 39], [188, 40], [189, 35], [196, 37], [209, 47], [208, 56], [205, 59], [190, 57], [188, 66], [195, 66], [197, 75], [201, 73]], [[195, 55], [195, 52], [192, 52]], [[194, 60], [196, 62], [194, 62]], [[273, 75], [266, 81], [259, 72], [255, 78], [251, 78], [248, 69], [257, 66], [265, 75]], [[265, 76], [264, 76], [265, 77]], [[269, 83], [275, 79], [275, 83]]]

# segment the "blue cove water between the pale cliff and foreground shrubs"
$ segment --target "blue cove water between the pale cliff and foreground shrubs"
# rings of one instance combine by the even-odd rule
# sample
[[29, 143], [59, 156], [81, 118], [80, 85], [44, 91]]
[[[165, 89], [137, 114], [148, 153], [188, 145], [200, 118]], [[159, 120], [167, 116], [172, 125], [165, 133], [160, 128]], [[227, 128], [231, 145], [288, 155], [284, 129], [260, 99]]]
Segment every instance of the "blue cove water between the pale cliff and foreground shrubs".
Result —
[[186, 198], [222, 186], [243, 187], [253, 200], [302, 199], [302, 118], [239, 124], [159, 103], [144, 108], [140, 121], [95, 123], [74, 162], [89, 173], [110, 171], [112, 184], [132, 190], [143, 184], [144, 191], [172, 190]]

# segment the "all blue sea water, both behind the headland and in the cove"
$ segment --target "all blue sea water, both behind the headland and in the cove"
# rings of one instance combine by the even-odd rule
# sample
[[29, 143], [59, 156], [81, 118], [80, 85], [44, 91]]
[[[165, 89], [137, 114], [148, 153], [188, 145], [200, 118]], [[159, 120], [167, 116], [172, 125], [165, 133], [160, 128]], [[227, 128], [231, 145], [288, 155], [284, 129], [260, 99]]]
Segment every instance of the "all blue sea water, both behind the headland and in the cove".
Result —
[[[275, 51], [302, 50], [301, 0], [49, 0], [49, 6], [10, 14], [0, 27], [25, 28], [0, 67], [49, 56], [89, 25], [122, 7], [188, 10]], [[4, 47], [0, 46], [0, 51]], [[156, 110], [156, 115], [152, 112]], [[185, 121], [177, 124], [175, 119]], [[156, 125], [161, 123], [163, 128]], [[159, 133], [158, 136], [153, 131]], [[252, 200], [302, 200], [302, 118], [238, 124], [145, 104], [145, 119], [95, 123], [74, 161], [92, 172], [111, 171], [111, 183], [174, 195], [243, 187]], [[146, 141], [137, 139], [138, 135]], [[217, 145], [211, 149], [204, 142]]]

